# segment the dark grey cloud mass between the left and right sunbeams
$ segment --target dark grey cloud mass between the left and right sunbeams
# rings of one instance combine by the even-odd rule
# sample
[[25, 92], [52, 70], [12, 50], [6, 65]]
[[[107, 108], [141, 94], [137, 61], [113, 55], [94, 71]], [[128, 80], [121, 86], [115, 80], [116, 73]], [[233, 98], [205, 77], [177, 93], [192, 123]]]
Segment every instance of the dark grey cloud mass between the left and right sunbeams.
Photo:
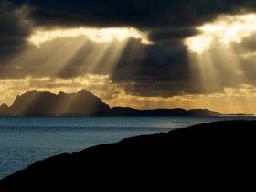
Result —
[[137, 54], [138, 42], [131, 40], [112, 74], [112, 80], [123, 83], [126, 92], [162, 97], [202, 93], [202, 85], [197, 81], [199, 76], [192, 80], [182, 41], [140, 46], [143, 54]]

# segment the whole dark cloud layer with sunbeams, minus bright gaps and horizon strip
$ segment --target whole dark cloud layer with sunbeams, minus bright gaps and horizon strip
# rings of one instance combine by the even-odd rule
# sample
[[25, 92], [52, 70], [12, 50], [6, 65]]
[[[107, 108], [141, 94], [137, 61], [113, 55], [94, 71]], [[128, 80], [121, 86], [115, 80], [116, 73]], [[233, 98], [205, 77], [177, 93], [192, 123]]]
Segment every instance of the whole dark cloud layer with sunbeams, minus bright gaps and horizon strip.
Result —
[[[200, 34], [198, 26], [219, 15], [253, 13], [255, 7], [254, 0], [5, 1], [0, 5], [0, 79], [108, 75], [127, 93], [147, 97], [209, 94], [225, 87], [256, 85], [253, 35], [232, 43], [229, 54], [233, 56], [228, 59], [219, 59], [223, 55], [216, 48], [202, 56], [201, 62], [208, 57], [215, 63], [202, 69], [215, 73], [218, 83], [210, 75], [204, 79], [202, 69], [191, 67], [191, 57], [197, 56], [184, 44], [187, 37]], [[147, 33], [153, 44], [131, 37], [123, 44], [107, 45], [80, 36], [55, 39], [40, 48], [27, 42], [38, 29], [76, 27], [133, 27]], [[237, 59], [240, 68], [224, 68], [230, 58]]]

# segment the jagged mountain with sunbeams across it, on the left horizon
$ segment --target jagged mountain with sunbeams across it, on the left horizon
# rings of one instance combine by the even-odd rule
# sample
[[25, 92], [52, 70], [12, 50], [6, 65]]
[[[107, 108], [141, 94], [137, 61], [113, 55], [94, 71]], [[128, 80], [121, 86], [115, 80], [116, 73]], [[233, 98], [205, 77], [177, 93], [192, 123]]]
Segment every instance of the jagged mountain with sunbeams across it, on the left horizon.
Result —
[[14, 104], [8, 107], [8, 112], [16, 116], [92, 116], [109, 110], [107, 104], [85, 90], [70, 94], [59, 92], [58, 95], [48, 91], [27, 91], [21, 96], [17, 96]]

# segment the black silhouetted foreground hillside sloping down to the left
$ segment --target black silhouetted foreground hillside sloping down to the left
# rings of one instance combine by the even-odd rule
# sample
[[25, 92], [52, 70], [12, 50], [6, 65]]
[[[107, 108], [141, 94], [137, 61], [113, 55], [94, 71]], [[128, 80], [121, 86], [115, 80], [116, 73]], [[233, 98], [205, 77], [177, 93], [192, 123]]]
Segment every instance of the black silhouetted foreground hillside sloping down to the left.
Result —
[[207, 123], [101, 144], [29, 165], [1, 180], [0, 191], [208, 191], [244, 179], [248, 186], [255, 174], [255, 129], [256, 121]]

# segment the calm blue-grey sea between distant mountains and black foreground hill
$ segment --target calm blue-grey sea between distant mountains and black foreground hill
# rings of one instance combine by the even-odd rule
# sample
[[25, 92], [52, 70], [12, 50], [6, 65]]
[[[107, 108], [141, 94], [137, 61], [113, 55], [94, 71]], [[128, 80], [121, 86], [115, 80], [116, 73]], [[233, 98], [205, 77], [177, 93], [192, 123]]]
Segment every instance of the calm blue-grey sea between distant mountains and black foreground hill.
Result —
[[[63, 152], [236, 117], [0, 117], [0, 179]], [[242, 117], [239, 119], [255, 119]]]

